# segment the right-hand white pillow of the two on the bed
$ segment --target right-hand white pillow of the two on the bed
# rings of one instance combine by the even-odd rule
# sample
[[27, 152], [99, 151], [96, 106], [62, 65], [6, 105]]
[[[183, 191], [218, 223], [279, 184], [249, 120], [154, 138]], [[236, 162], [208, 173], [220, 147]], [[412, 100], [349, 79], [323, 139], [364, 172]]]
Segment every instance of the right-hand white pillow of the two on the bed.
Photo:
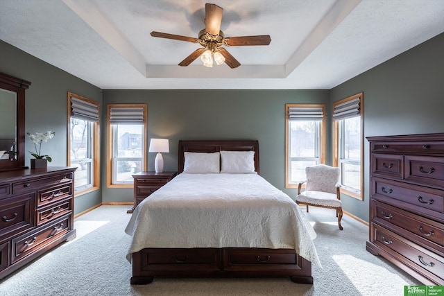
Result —
[[255, 152], [221, 151], [221, 173], [255, 173]]

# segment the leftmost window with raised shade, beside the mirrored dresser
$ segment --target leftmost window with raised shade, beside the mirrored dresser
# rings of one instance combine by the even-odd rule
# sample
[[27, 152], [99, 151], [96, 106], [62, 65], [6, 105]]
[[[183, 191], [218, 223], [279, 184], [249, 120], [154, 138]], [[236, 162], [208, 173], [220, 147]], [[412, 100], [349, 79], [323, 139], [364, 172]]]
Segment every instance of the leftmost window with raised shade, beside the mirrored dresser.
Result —
[[99, 103], [68, 92], [68, 166], [76, 195], [99, 189]]

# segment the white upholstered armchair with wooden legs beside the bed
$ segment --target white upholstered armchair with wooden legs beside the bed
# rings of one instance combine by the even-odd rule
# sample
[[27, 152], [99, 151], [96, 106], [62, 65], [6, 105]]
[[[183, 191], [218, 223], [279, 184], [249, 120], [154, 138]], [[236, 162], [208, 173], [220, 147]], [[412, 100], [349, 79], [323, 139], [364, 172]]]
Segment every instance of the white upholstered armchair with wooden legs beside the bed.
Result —
[[[325, 207], [336, 210], [339, 229], [342, 219], [342, 202], [339, 191], [339, 168], [319, 164], [305, 168], [307, 180], [298, 184], [298, 195], [296, 195], [297, 204], [305, 204], [307, 212], [309, 206]], [[302, 192], [302, 184], [305, 184], [305, 191]]]

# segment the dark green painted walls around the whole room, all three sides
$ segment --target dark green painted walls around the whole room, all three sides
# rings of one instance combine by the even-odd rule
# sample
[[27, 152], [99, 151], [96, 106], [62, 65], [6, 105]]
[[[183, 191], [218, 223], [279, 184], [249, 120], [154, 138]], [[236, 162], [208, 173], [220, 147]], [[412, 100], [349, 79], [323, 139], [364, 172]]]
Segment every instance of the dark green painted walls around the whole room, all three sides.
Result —
[[[177, 168], [179, 139], [258, 139], [261, 175], [284, 189], [284, 106], [286, 103], [331, 105], [364, 92], [364, 135], [444, 132], [444, 34], [438, 35], [331, 90], [101, 90], [71, 74], [0, 41], [0, 71], [32, 82], [26, 90], [26, 132], [56, 131], [43, 146], [51, 165], [67, 163], [67, 92], [101, 103], [101, 167], [104, 176], [108, 139], [105, 110], [108, 103], [147, 103], [148, 139], [167, 137], [165, 170]], [[327, 131], [332, 130], [328, 118]], [[148, 140], [147, 140], [148, 141]], [[46, 144], [46, 143], [45, 143]], [[26, 141], [26, 151], [32, 150]], [[332, 162], [331, 134], [327, 164]], [[153, 170], [153, 153], [148, 169]], [[31, 159], [26, 155], [26, 163]], [[368, 141], [364, 141], [364, 201], [346, 195], [345, 211], [368, 220]], [[132, 202], [132, 189], [108, 189], [76, 198], [76, 214], [101, 202]]]

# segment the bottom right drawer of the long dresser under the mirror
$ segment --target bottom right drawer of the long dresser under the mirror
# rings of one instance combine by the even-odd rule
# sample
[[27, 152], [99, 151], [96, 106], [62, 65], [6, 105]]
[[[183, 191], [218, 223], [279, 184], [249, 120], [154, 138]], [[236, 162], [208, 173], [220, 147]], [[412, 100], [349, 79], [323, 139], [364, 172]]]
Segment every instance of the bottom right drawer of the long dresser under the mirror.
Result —
[[58, 238], [58, 236], [67, 233], [71, 228], [71, 215], [68, 215], [44, 227], [39, 227], [36, 232], [13, 238], [11, 262], [15, 263], [28, 256], [28, 254], [44, 247]]

